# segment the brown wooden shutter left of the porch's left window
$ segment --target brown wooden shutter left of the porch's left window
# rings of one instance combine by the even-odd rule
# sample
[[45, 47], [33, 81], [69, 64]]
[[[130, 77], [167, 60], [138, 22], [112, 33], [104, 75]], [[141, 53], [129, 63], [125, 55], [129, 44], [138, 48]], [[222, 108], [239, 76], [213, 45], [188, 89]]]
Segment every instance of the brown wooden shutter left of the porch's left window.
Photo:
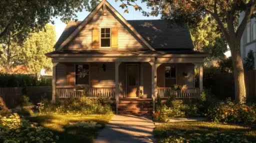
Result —
[[74, 64], [66, 64], [66, 84], [75, 85], [75, 67]]

